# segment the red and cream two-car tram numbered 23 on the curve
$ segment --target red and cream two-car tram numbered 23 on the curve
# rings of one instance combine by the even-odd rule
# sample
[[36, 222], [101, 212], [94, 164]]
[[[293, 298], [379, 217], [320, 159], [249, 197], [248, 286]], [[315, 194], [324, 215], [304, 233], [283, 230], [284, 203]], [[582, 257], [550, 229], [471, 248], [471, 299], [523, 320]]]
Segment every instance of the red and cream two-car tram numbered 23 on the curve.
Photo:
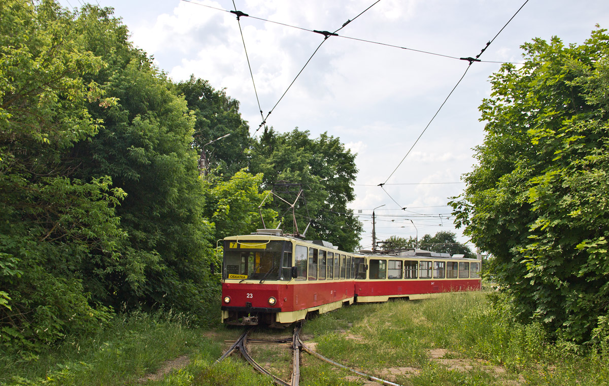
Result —
[[353, 302], [479, 290], [476, 259], [348, 253], [278, 229], [224, 239], [222, 323], [282, 326]]

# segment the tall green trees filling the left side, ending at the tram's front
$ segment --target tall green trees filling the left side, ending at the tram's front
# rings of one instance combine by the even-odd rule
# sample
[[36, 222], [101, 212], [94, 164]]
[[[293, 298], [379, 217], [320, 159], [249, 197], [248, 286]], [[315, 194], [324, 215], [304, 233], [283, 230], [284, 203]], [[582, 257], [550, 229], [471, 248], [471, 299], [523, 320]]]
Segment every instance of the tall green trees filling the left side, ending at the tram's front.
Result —
[[0, 345], [91, 331], [108, 306], [205, 318], [213, 227], [186, 101], [110, 9], [0, 10]]

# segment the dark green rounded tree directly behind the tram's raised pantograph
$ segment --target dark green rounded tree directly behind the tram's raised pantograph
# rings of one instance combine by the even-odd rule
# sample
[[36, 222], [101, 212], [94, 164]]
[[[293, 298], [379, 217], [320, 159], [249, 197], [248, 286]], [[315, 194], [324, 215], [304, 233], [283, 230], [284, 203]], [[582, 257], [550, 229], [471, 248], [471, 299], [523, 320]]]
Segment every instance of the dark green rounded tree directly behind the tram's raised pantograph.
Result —
[[[297, 204], [296, 215], [298, 231], [303, 232], [311, 223], [306, 238], [327, 240], [346, 251], [357, 248], [362, 224], [347, 208], [354, 199], [355, 155], [339, 138], [324, 133], [311, 139], [308, 131], [280, 134], [265, 127], [253, 144], [250, 171], [264, 174], [263, 187], [267, 189], [281, 181], [301, 185], [304, 199]], [[283, 195], [293, 202], [297, 193], [298, 188], [294, 188]], [[277, 211], [284, 229], [291, 232], [291, 212], [286, 209], [279, 206]]]

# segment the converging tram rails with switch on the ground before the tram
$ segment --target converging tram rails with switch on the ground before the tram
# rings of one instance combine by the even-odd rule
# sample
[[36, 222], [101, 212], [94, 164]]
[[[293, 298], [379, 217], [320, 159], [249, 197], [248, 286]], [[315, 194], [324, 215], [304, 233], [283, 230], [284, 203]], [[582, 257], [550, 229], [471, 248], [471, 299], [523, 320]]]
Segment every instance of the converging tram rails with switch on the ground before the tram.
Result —
[[[301, 338], [300, 338], [301, 327], [302, 327], [301, 324], [298, 324], [297, 326], [294, 327], [294, 332], [292, 333], [291, 339], [290, 338], [280, 338], [280, 339], [252, 339], [252, 338], [250, 338], [249, 340], [248, 340], [248, 334], [250, 331], [252, 331], [253, 328], [248, 327], [247, 329], [245, 329], [243, 334], [241, 334], [241, 336], [238, 338], [238, 340], [236, 340], [233, 343], [233, 345], [231, 345], [230, 348], [228, 348], [228, 350], [226, 352], [224, 352], [224, 354], [219, 359], [217, 359], [217, 362], [222, 362], [222, 360], [224, 360], [226, 357], [230, 356], [230, 354], [232, 354], [234, 351], [239, 351], [239, 352], [241, 352], [241, 355], [244, 357], [244, 359], [247, 360], [247, 362], [253, 366], [253, 368], [258, 370], [262, 374], [266, 374], [267, 376], [270, 376], [276, 384], [282, 385], [282, 386], [298, 386], [298, 384], [300, 382], [300, 351], [304, 350], [304, 351], [308, 352], [309, 354], [311, 354], [312, 356], [317, 357], [325, 362], [328, 362], [331, 365], [351, 371], [352, 373], [356, 373], [359, 376], [370, 379], [370, 381], [379, 382], [379, 383], [381, 383], [383, 385], [387, 385], [387, 386], [401, 386], [399, 384], [395, 384], [393, 382], [385, 381], [384, 379], [380, 379], [380, 378], [362, 373], [361, 371], [353, 370], [352, 368], [349, 368], [345, 365], [341, 365], [340, 363], [334, 362], [333, 360], [328, 359], [328, 358], [322, 356], [321, 354], [313, 351], [312, 349], [308, 348], [308, 346], [306, 346], [305, 343], [303, 343], [303, 341], [301, 340]], [[264, 344], [264, 343], [266, 343], [266, 344], [285, 344], [285, 345], [289, 344], [292, 348], [291, 381], [290, 382], [284, 381], [280, 377], [275, 376], [274, 374], [270, 373], [269, 370], [267, 370], [262, 365], [260, 365], [258, 362], [256, 362], [252, 358], [250, 353], [247, 351], [248, 342], [262, 343], [262, 344]]]

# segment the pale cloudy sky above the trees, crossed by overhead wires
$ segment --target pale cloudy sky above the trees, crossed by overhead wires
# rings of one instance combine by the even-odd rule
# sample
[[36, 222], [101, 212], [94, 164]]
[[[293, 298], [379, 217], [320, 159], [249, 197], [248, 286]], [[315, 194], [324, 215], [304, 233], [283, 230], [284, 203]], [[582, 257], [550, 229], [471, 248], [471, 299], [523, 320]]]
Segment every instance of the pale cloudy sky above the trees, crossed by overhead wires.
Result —
[[[60, 3], [73, 8], [82, 1]], [[490, 96], [488, 80], [501, 67], [497, 62], [521, 63], [520, 46], [533, 38], [583, 43], [596, 24], [609, 27], [609, 1], [375, 1], [94, 4], [113, 7], [131, 41], [174, 81], [194, 74], [225, 88], [241, 102], [252, 135], [261, 132], [256, 132], [260, 110], [264, 116], [272, 110], [266, 123], [279, 132], [298, 127], [314, 138], [323, 132], [339, 137], [357, 154], [356, 199], [350, 208], [364, 224], [363, 248], [372, 245], [373, 209], [377, 240], [451, 231], [474, 248], [452, 223], [447, 203], [462, 193], [461, 178], [476, 163], [475, 147], [484, 140], [478, 107]], [[235, 6], [252, 17], [238, 21], [227, 12]], [[310, 32], [337, 29], [339, 36], [325, 41]], [[469, 65], [459, 58], [475, 57], [491, 40], [482, 62], [474, 62], [455, 88]]]

